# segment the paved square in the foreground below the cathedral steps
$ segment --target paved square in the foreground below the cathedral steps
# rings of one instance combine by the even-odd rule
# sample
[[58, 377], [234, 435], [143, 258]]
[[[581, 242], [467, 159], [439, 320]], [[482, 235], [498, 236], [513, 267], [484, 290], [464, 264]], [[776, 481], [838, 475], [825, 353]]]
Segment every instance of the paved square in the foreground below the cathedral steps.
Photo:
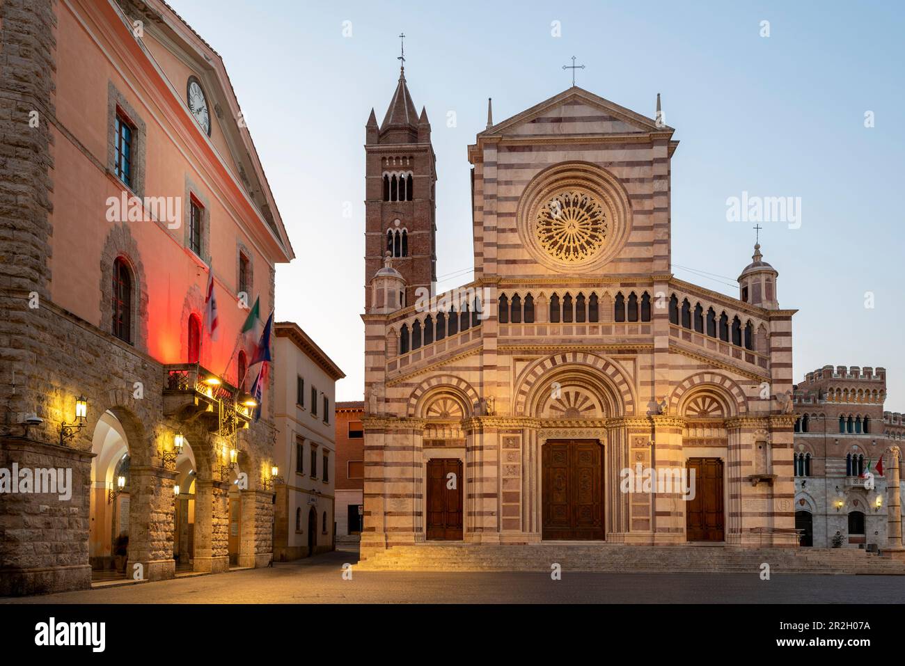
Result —
[[25, 604], [408, 604], [408, 603], [902, 603], [905, 576], [358, 572], [337, 551], [273, 568], [235, 571], [0, 603]]

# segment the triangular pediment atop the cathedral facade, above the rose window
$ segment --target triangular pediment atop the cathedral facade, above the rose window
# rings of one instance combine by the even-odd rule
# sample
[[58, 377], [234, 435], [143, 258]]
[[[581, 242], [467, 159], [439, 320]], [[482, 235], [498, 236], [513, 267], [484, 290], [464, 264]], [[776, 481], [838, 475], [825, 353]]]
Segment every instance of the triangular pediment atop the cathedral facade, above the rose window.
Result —
[[490, 137], [672, 133], [669, 126], [574, 86], [481, 132]]

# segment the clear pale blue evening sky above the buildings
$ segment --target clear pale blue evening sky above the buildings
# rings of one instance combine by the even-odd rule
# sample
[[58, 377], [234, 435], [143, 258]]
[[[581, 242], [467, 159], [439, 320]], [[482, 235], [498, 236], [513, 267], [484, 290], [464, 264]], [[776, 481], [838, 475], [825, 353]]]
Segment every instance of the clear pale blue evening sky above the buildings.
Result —
[[561, 66], [576, 55], [578, 85], [608, 100], [653, 116], [662, 93], [681, 141], [673, 262], [713, 275], [675, 274], [737, 295], [754, 232], [727, 222], [727, 197], [801, 197], [801, 228], [761, 233], [780, 306], [800, 310], [795, 381], [824, 364], [884, 366], [886, 408], [905, 411], [905, 4], [170, 2], [224, 57], [298, 255], [277, 271], [277, 319], [346, 372], [338, 399], [363, 393], [364, 126], [371, 107], [383, 119], [405, 32], [409, 90], [437, 155], [440, 290], [471, 279], [442, 276], [472, 267], [466, 146], [487, 98], [497, 121], [546, 100], [570, 85]]

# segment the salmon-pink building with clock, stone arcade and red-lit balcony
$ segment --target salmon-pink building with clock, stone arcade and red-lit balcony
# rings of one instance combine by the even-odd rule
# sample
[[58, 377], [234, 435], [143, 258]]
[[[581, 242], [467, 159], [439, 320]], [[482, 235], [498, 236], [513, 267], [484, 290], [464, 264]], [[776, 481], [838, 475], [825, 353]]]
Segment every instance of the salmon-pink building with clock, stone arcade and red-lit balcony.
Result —
[[0, 595], [266, 565], [241, 329], [293, 254], [224, 63], [161, 0], [9, 0], [0, 31], [0, 469], [72, 485], [0, 495]]

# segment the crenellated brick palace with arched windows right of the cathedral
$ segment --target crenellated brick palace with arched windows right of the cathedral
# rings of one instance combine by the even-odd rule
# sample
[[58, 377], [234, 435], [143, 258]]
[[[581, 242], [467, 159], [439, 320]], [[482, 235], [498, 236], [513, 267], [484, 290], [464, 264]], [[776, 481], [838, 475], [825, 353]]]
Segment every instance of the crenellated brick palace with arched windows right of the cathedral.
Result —
[[835, 538], [840, 547], [887, 547], [892, 456], [900, 456], [905, 422], [884, 411], [885, 400], [882, 367], [824, 366], [795, 386], [795, 526], [803, 546], [833, 547]]

